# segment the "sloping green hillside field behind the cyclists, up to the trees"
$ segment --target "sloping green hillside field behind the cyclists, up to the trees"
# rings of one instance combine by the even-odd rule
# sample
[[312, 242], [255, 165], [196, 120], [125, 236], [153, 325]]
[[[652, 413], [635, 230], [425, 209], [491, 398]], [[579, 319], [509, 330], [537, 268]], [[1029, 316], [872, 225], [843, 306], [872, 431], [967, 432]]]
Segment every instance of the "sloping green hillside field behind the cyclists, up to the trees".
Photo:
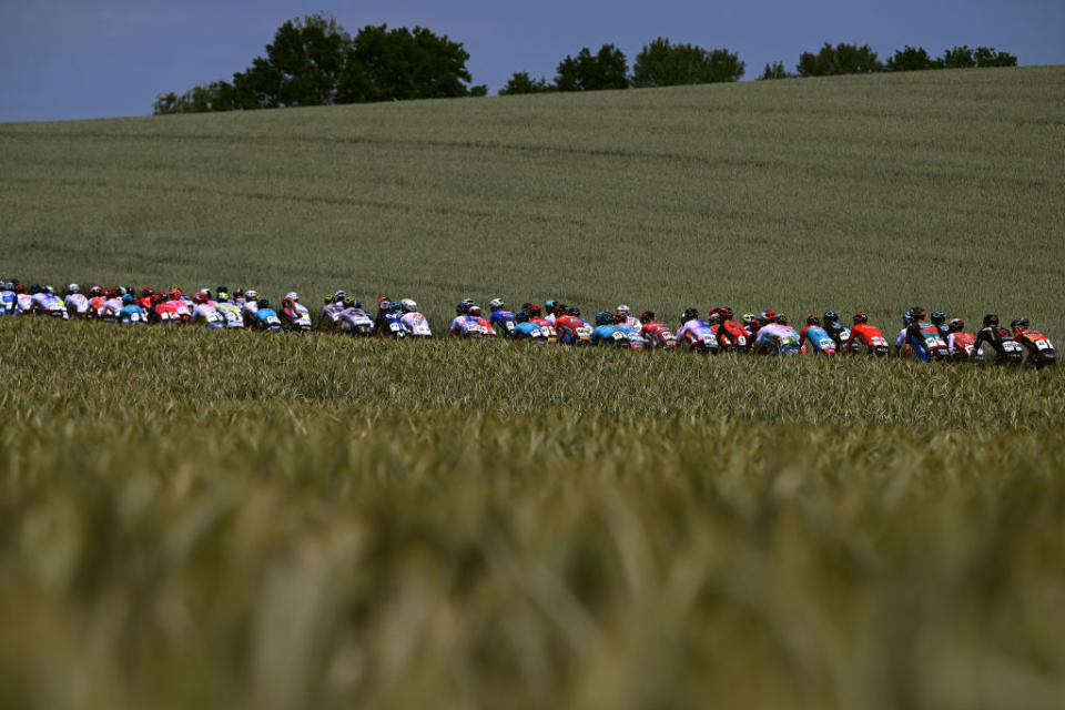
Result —
[[1065, 67], [0, 124], [4, 275], [1065, 315]]

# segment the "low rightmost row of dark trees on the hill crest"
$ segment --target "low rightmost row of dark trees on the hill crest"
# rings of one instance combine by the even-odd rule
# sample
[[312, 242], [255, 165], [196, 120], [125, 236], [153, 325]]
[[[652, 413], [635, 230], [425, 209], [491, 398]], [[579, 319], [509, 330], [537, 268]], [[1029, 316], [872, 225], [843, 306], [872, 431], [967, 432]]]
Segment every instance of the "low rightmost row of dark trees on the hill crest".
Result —
[[840, 43], [832, 47], [825, 42], [816, 54], [799, 55], [795, 73], [784, 69], [783, 62], [765, 64], [759, 79], [788, 79], [791, 77], [834, 77], [838, 74], [869, 74], [884, 71], [921, 71], [925, 69], [972, 69], [977, 67], [1016, 67], [1017, 58], [1010, 52], [996, 51], [993, 47], [953, 47], [933, 59], [923, 47], [906, 44], [886, 62], [881, 62], [869, 44]]

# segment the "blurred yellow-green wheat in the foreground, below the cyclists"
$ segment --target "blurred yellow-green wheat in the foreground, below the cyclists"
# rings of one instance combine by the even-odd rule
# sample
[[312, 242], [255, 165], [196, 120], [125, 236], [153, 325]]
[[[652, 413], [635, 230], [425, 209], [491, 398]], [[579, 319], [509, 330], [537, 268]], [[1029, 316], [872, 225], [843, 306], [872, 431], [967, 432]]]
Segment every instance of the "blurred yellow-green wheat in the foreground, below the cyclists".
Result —
[[7, 706], [1065, 697], [1061, 368], [0, 326]]

